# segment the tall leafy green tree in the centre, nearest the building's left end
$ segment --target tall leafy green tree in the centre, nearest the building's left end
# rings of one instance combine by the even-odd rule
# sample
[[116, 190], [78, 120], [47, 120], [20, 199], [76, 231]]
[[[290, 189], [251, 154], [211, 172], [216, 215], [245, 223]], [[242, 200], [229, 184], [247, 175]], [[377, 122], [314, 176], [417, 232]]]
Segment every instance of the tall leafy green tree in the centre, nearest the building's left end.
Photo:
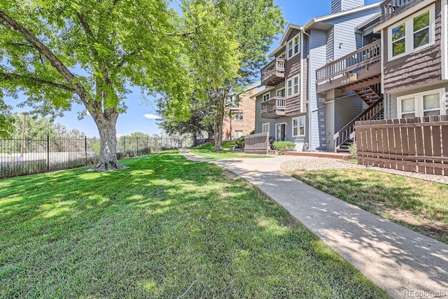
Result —
[[[200, 13], [198, 7], [202, 8]], [[197, 88], [203, 89], [203, 93], [196, 91], [195, 99], [201, 100], [197, 95], [205, 95], [202, 100], [207, 102], [209, 110], [202, 122], [214, 127], [214, 150], [221, 151], [225, 104], [230, 92], [238, 92], [244, 85], [253, 81], [255, 76], [259, 76], [260, 67], [266, 63], [265, 53], [277, 34], [282, 32], [285, 21], [283, 13], [274, 5], [273, 0], [183, 1], [184, 14], [190, 17], [187, 20], [195, 20], [196, 25], [202, 25], [204, 20], [192, 16], [207, 15], [204, 7], [213, 12], [215, 22], [207, 22], [207, 30], [197, 32], [201, 41], [207, 41], [207, 44], [195, 43], [197, 57], [196, 60], [189, 61], [188, 71], [195, 74], [193, 78], [197, 78]], [[187, 28], [192, 25], [186, 23]], [[216, 32], [225, 34], [214, 34]], [[204, 38], [205, 36], [207, 37]], [[225, 48], [224, 41], [237, 46]], [[229, 64], [223, 61], [222, 53], [207, 55], [207, 49], [223, 46], [225, 57], [239, 60], [236, 71], [229, 71]], [[164, 113], [169, 114], [169, 109]]]

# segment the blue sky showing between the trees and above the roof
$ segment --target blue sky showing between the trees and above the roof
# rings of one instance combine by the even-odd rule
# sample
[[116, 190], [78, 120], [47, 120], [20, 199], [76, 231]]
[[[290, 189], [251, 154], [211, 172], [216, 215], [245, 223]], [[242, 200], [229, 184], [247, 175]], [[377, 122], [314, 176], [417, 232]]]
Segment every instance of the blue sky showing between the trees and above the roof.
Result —
[[[365, 4], [372, 4], [377, 0], [365, 0]], [[311, 18], [321, 15], [328, 15], [331, 11], [331, 0], [274, 0], [274, 4], [279, 5], [283, 11], [286, 22], [296, 25], [304, 25]], [[273, 50], [279, 46], [279, 39], [272, 45]], [[143, 132], [145, 134], [161, 134], [155, 118], [157, 118], [157, 106], [141, 98], [138, 88], [133, 89], [128, 95], [126, 104], [126, 113], [121, 114], [117, 121], [117, 135], [129, 135], [133, 132]], [[22, 99], [13, 100], [6, 99], [11, 106], [15, 106]], [[91, 116], [85, 116], [82, 120], [78, 120], [78, 111], [85, 110], [83, 106], [73, 104], [71, 111], [64, 113], [63, 118], [56, 118], [55, 122], [65, 125], [69, 130], [77, 129], [84, 132], [87, 137], [99, 137], [97, 126]], [[26, 108], [15, 108], [13, 111], [23, 112]]]

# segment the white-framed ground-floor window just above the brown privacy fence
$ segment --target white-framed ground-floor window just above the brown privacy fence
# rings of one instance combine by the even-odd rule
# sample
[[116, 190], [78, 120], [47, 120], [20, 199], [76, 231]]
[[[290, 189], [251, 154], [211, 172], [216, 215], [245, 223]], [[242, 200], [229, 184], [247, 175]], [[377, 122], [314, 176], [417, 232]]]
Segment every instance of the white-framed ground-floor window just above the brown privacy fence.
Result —
[[398, 117], [440, 116], [443, 112], [444, 88], [398, 97]]

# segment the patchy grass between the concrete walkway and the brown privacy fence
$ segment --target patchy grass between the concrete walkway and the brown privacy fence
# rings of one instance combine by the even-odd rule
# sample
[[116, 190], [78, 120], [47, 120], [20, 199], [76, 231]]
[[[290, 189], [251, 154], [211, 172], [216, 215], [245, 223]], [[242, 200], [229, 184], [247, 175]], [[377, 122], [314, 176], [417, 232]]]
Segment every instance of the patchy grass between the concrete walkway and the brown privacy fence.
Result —
[[448, 244], [448, 185], [372, 169], [296, 171], [314, 188]]

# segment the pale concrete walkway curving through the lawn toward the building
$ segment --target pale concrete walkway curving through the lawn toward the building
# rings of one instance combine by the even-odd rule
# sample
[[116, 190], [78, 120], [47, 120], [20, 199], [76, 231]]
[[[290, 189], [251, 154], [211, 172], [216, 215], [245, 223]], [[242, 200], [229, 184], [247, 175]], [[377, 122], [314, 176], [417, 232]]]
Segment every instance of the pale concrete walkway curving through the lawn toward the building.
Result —
[[393, 298], [448, 298], [448, 245], [392, 223], [285, 174], [293, 157], [211, 160], [284, 207]]

